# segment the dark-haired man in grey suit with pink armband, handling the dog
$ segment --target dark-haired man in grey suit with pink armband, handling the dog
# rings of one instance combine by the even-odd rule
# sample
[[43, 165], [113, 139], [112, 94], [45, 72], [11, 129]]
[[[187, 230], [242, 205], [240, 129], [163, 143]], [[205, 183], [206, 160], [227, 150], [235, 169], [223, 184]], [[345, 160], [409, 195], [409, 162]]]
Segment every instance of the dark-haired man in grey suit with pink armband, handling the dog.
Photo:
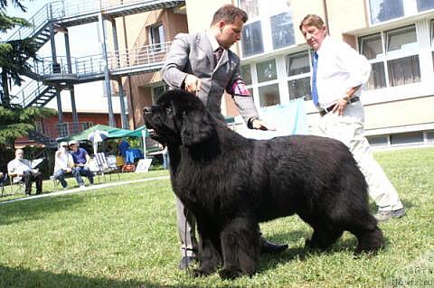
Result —
[[[222, 95], [228, 92], [250, 129], [268, 130], [259, 120], [253, 98], [241, 79], [240, 59], [229, 50], [233, 43], [241, 40], [247, 18], [240, 8], [223, 5], [213, 15], [207, 32], [176, 35], [161, 76], [172, 88], [196, 93], [208, 110], [217, 115], [221, 115]], [[195, 220], [178, 199], [176, 216], [183, 255], [179, 268], [186, 269], [197, 251]], [[270, 243], [263, 237], [260, 241], [263, 253], [281, 252], [288, 247]]]

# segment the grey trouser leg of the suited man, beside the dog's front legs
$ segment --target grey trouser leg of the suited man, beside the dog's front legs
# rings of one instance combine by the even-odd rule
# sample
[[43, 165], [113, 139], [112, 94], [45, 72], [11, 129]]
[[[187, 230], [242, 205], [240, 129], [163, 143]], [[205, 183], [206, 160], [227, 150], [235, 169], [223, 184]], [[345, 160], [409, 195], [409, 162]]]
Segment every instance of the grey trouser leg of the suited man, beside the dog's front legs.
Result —
[[176, 197], [176, 225], [181, 240], [181, 255], [195, 256], [197, 240], [195, 236], [196, 219], [193, 213], [188, 213], [183, 202]]

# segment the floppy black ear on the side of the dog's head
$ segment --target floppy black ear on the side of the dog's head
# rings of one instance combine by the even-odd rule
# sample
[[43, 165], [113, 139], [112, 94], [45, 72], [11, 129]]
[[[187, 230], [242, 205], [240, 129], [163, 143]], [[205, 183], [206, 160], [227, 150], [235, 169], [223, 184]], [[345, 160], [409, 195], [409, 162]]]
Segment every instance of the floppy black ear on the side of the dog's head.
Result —
[[185, 146], [203, 143], [212, 136], [212, 131], [212, 120], [205, 109], [184, 111], [181, 140]]

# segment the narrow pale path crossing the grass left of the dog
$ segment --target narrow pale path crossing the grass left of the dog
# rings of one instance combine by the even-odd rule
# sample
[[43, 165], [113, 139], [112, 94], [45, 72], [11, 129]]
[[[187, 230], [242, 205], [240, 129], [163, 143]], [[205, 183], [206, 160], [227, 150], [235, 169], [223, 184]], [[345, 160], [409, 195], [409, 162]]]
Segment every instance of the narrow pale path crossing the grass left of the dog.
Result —
[[118, 186], [118, 185], [125, 185], [125, 184], [130, 184], [130, 183], [154, 181], [154, 180], [169, 179], [169, 178], [170, 178], [169, 176], [160, 176], [160, 177], [138, 179], [138, 180], [131, 180], [131, 181], [110, 182], [110, 183], [106, 183], [106, 184], [95, 184], [95, 185], [87, 186], [85, 188], [74, 188], [74, 189], [70, 189], [70, 190], [61, 190], [61, 191], [57, 191], [57, 192], [45, 193], [45, 194], [40, 194], [40, 195], [32, 195], [32, 196], [18, 198], [18, 199], [14, 199], [14, 200], [8, 200], [5, 202], [0, 202], [0, 205], [7, 204], [7, 203], [14, 203], [14, 202], [18, 202], [18, 201], [24, 201], [24, 200], [33, 200], [33, 199], [46, 198], [46, 197], [52, 197], [52, 196], [58, 196], [58, 195], [80, 193], [80, 192], [84, 192], [84, 191], [97, 190], [97, 189], [101, 189], [101, 188], [113, 187], [113, 186]]

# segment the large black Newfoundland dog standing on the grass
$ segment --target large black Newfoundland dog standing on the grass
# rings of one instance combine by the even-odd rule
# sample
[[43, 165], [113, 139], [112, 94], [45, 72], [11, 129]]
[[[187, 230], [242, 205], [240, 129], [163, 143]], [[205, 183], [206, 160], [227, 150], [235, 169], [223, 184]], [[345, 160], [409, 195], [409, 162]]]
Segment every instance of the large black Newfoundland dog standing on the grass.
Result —
[[144, 110], [151, 137], [166, 144], [175, 194], [197, 219], [200, 267], [222, 278], [253, 274], [259, 222], [297, 213], [325, 249], [344, 230], [356, 252], [383, 245], [367, 184], [347, 147], [313, 135], [251, 140], [231, 131], [193, 94], [171, 90]]

